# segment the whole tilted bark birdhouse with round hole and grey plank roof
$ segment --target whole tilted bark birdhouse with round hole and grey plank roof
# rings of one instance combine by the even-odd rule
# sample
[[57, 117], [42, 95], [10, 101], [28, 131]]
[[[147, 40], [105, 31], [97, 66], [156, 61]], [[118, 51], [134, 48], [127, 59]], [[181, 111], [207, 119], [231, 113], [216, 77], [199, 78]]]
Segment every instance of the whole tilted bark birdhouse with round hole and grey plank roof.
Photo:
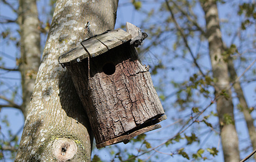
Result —
[[60, 56], [87, 112], [96, 146], [127, 143], [166, 119], [150, 73], [134, 46], [145, 38], [132, 24], [83, 40]]

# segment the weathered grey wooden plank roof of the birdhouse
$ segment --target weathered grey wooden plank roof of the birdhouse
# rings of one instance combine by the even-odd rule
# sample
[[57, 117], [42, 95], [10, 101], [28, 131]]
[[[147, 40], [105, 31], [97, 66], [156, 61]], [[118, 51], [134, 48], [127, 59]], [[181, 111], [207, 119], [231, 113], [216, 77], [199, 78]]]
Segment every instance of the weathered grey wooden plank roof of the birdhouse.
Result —
[[122, 29], [111, 30], [81, 42], [81, 46], [60, 56], [58, 61], [63, 64], [73, 64], [89, 57], [96, 57], [115, 48], [128, 40], [132, 35]]

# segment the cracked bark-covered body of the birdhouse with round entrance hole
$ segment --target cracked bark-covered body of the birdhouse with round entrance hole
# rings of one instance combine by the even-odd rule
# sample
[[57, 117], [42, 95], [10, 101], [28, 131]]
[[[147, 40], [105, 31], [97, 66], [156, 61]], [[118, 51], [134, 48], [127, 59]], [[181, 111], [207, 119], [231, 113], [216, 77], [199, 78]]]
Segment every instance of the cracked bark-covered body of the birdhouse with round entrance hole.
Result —
[[90, 58], [89, 68], [90, 76], [88, 58], [67, 67], [87, 109], [96, 144], [142, 129], [142, 124], [164, 114], [150, 73], [129, 42]]

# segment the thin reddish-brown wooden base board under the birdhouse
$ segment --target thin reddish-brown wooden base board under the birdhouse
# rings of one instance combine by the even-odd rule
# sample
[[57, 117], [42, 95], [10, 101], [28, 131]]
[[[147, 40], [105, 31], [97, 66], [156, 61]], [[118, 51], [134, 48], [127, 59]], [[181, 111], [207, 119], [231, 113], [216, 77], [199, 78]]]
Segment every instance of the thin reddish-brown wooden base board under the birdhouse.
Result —
[[127, 141], [129, 141], [131, 138], [133, 138], [135, 136], [138, 136], [139, 134], [142, 134], [142, 133], [145, 133], [145, 132], [148, 132], [148, 131], [153, 131], [155, 129], [159, 129], [160, 127], [161, 127], [160, 124], [143, 127], [142, 129], [137, 130], [133, 133], [130, 133], [129, 135], [124, 135], [124, 136], [120, 136], [120, 137], [117, 137], [117, 138], [114, 138], [114, 139], [104, 141], [103, 143], [97, 144], [96, 147], [97, 147], [97, 149], [100, 149], [101, 147], [121, 143], [122, 141], [124, 141], [124, 143], [127, 143]]

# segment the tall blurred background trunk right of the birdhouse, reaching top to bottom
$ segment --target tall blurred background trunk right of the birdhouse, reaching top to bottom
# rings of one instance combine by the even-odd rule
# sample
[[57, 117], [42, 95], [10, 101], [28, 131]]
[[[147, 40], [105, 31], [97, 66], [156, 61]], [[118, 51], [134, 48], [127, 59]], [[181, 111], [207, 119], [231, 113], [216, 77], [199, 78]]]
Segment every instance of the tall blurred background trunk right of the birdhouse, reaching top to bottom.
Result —
[[233, 103], [229, 89], [227, 62], [222, 53], [224, 45], [221, 38], [218, 8], [215, 0], [202, 1], [205, 11], [206, 35], [209, 44], [209, 55], [212, 62], [215, 82], [216, 108], [220, 123], [220, 135], [225, 161], [239, 161], [238, 136], [234, 125]]

